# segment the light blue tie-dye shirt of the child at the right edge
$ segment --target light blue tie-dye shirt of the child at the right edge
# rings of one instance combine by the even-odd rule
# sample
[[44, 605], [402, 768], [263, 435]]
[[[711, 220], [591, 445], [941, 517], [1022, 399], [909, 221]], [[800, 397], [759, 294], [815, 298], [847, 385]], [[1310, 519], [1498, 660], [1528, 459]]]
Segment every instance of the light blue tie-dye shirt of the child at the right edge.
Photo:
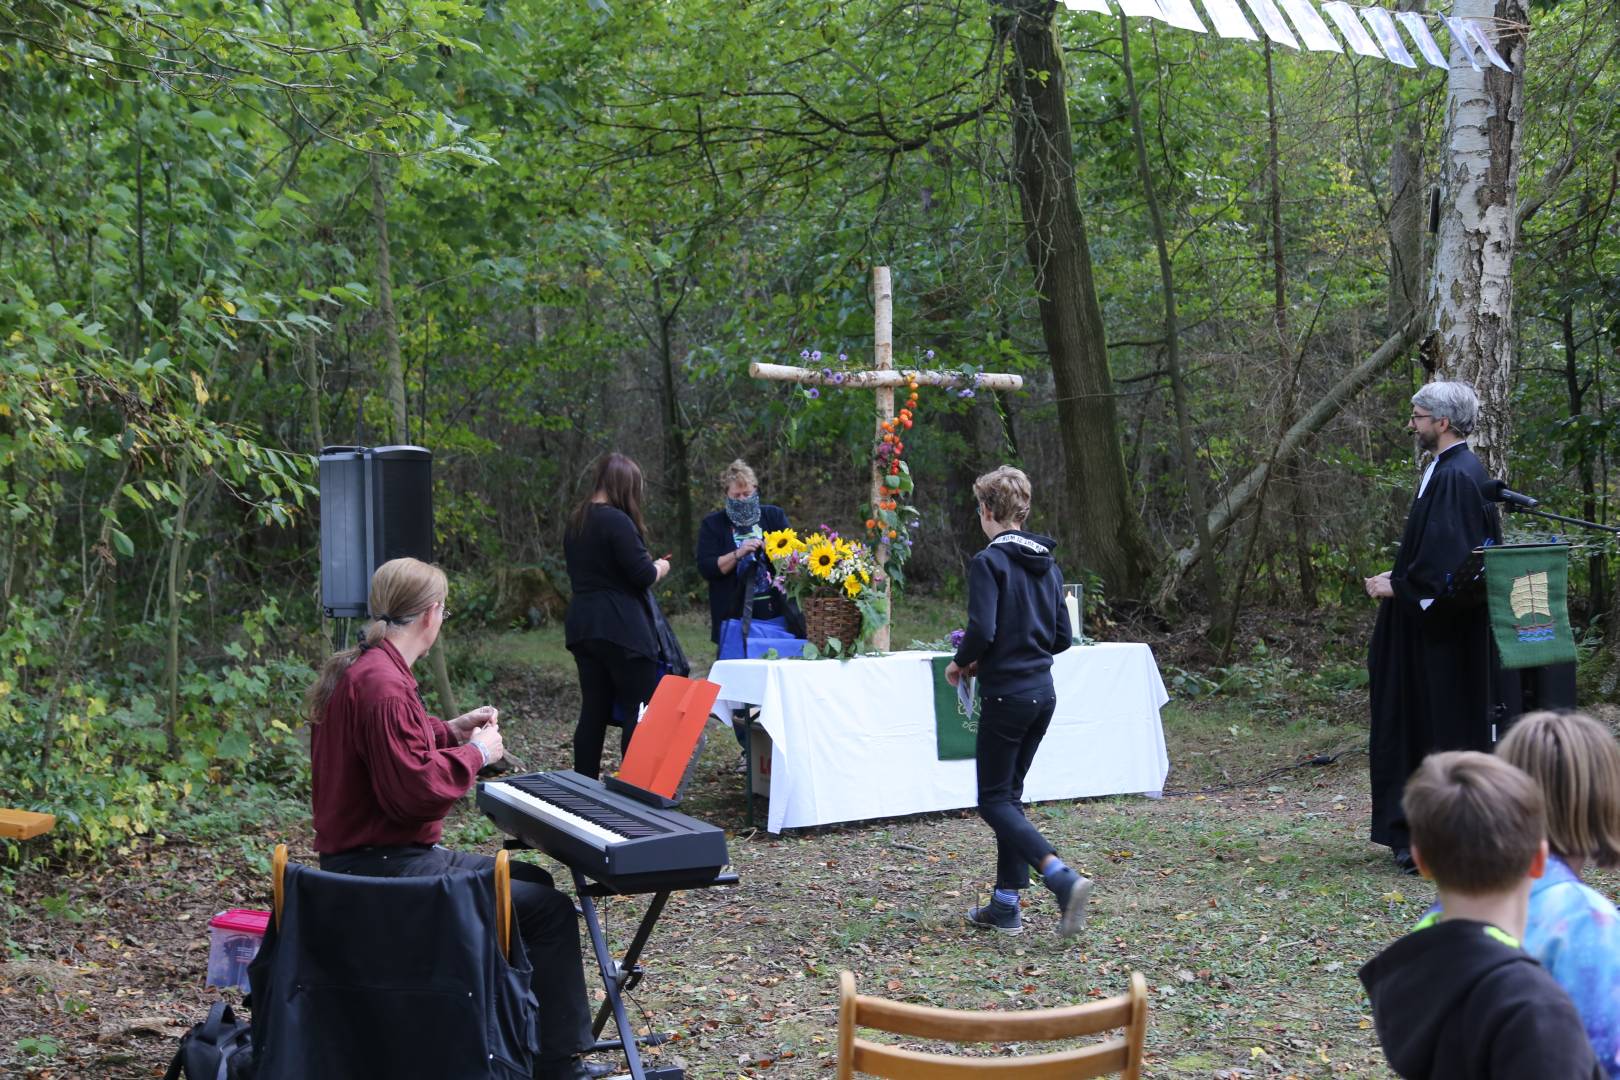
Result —
[[1531, 886], [1524, 952], [1570, 994], [1597, 1064], [1620, 1080], [1620, 912], [1557, 855]]

